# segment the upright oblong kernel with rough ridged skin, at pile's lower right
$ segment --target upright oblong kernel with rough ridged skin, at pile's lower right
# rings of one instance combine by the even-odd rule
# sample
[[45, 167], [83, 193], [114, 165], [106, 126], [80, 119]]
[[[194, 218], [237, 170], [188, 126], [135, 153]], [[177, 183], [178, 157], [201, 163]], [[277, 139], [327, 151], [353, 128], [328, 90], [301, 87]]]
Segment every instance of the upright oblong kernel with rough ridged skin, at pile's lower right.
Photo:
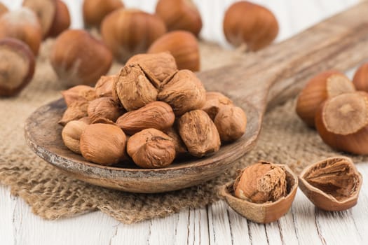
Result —
[[189, 111], [179, 118], [178, 131], [191, 155], [201, 158], [219, 151], [219, 132], [202, 110]]

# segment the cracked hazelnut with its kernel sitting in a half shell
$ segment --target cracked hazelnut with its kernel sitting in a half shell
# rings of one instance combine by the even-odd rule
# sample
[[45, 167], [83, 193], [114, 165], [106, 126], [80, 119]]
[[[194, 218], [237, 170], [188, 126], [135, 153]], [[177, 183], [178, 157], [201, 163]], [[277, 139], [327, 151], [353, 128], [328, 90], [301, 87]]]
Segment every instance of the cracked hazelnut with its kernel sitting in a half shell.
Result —
[[219, 195], [248, 220], [271, 223], [287, 213], [297, 189], [298, 177], [287, 165], [260, 161], [241, 170]]

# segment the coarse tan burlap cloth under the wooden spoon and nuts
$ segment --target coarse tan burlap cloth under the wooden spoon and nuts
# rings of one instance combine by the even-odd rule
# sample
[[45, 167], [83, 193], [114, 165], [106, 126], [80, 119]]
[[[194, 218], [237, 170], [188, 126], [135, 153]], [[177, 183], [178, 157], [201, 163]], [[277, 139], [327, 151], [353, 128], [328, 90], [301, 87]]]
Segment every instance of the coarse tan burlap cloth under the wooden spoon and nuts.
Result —
[[[124, 193], [92, 186], [66, 176], [37, 157], [25, 144], [23, 127], [26, 118], [39, 106], [60, 98], [62, 87], [48, 62], [53, 41], [41, 47], [32, 83], [18, 97], [0, 99], [0, 183], [22, 197], [34, 214], [46, 219], [76, 216], [100, 211], [123, 223], [135, 223], [168, 216], [186, 207], [203, 207], [218, 200], [217, 188], [235, 174], [235, 170], [268, 160], [284, 163], [299, 173], [303, 167], [336, 155], [322, 143], [315, 131], [305, 127], [294, 113], [294, 100], [266, 114], [257, 146], [236, 163], [231, 171], [200, 186], [163, 194]], [[201, 43], [202, 68], [229, 64], [239, 52]], [[120, 69], [114, 64], [110, 73]], [[353, 156], [359, 162], [367, 158]]]

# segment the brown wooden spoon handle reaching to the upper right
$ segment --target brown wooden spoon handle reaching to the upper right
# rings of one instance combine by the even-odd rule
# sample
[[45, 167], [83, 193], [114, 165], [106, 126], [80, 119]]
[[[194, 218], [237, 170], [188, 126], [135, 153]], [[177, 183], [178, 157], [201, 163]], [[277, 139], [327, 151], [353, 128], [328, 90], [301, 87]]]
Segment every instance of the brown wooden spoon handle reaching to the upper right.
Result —
[[264, 113], [309, 78], [327, 69], [346, 71], [368, 59], [368, 2], [324, 20], [292, 38], [253, 52], [237, 64], [199, 73], [209, 90], [249, 102]]

